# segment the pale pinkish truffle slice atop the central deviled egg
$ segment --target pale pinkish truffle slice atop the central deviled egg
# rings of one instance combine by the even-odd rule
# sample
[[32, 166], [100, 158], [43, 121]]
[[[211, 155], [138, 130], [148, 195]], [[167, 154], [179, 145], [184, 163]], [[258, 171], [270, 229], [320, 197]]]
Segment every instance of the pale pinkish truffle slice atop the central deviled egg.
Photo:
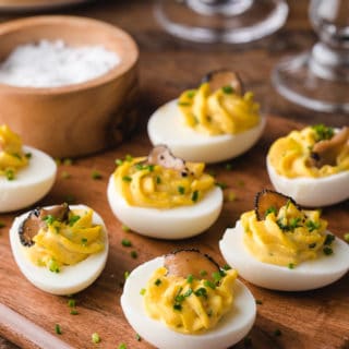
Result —
[[147, 164], [174, 169], [181, 172], [182, 176], [188, 176], [189, 173], [185, 161], [176, 157], [166, 145], [155, 146], [148, 155]]

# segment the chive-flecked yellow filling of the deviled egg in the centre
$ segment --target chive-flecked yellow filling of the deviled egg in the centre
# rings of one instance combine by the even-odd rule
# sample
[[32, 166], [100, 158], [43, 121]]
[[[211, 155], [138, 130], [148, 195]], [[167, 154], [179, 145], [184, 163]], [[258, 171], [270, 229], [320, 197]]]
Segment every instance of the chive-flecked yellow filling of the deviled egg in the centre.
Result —
[[213, 189], [215, 180], [204, 173], [203, 163], [185, 163], [189, 172], [146, 165], [145, 157], [124, 160], [115, 171], [119, 193], [132, 206], [172, 208], [193, 205]]

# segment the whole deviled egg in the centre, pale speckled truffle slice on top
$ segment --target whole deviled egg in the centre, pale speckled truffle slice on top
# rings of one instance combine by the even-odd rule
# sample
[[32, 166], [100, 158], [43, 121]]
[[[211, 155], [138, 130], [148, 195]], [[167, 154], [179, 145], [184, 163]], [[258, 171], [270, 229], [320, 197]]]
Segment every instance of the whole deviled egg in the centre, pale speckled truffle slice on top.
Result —
[[222, 207], [222, 191], [203, 163], [155, 147], [148, 157], [120, 161], [108, 184], [115, 215], [132, 230], [153, 238], [182, 239], [208, 229]]

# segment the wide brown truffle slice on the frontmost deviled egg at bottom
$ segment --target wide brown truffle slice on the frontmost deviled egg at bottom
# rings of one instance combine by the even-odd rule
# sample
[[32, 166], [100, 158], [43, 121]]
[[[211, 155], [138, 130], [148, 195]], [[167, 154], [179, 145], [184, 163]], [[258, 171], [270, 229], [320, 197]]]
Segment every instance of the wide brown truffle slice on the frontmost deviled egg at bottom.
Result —
[[186, 278], [193, 276], [197, 279], [214, 280], [213, 274], [219, 273], [219, 265], [207, 254], [196, 249], [177, 250], [165, 256], [164, 266], [168, 275]]

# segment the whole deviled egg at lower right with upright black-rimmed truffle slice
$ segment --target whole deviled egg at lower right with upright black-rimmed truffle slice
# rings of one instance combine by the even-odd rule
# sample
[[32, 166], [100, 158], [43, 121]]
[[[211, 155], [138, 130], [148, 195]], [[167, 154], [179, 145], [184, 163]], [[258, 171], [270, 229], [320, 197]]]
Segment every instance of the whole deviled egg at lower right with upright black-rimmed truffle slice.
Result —
[[241, 277], [268, 289], [315, 289], [349, 270], [349, 245], [327, 230], [320, 210], [302, 209], [269, 190], [226, 230], [219, 248]]

